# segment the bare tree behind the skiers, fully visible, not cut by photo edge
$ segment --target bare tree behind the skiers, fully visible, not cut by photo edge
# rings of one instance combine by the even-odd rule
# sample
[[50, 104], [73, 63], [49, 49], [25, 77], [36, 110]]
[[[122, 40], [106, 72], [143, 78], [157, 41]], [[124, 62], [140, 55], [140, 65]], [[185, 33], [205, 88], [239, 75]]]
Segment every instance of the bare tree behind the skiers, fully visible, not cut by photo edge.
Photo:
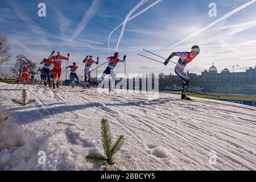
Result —
[[14, 65], [14, 68], [11, 69], [11, 73], [13, 74], [13, 76], [21, 76], [21, 72], [19, 70], [22, 69], [24, 65], [27, 65], [27, 67], [31, 70], [34, 70], [36, 68], [36, 64], [33, 63], [31, 60], [28, 60], [26, 56], [16, 56], [16, 63]]

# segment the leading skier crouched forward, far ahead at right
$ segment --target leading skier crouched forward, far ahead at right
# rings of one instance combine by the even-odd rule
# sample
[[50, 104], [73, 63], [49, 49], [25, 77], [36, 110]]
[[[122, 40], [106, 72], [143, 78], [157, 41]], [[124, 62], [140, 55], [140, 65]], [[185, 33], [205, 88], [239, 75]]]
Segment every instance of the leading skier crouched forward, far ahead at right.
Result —
[[199, 46], [193, 46], [191, 52], [172, 52], [168, 59], [164, 62], [164, 65], [167, 65], [172, 57], [180, 56], [179, 61], [175, 67], [175, 73], [181, 78], [181, 80], [183, 80], [183, 83], [181, 84], [181, 100], [191, 100], [189, 97], [186, 96], [186, 92], [188, 90], [189, 84], [191, 83], [191, 80], [185, 72], [185, 67], [188, 63], [195, 59], [195, 57], [199, 55], [199, 53]]

